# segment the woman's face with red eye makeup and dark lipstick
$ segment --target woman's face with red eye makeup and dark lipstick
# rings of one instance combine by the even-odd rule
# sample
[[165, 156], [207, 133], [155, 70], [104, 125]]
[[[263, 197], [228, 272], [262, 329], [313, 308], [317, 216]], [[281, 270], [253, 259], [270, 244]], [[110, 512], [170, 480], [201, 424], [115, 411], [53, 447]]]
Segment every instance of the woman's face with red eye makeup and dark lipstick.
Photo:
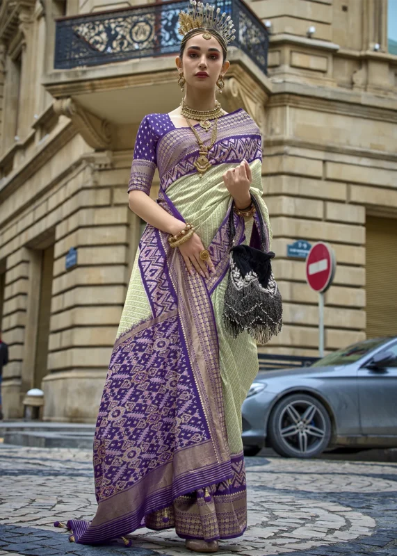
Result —
[[199, 34], [186, 42], [182, 60], [177, 58], [177, 65], [183, 70], [189, 87], [209, 90], [216, 88], [216, 81], [220, 74], [225, 74], [229, 62], [223, 63], [222, 47], [215, 37], [204, 39]]

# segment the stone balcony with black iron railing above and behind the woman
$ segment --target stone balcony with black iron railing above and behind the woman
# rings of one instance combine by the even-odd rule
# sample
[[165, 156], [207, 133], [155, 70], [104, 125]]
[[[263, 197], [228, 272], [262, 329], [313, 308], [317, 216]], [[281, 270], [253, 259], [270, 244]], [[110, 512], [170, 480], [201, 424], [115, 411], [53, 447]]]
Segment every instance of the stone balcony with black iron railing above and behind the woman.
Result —
[[[129, 148], [120, 142], [123, 126], [179, 104], [178, 15], [187, 5], [186, 0], [167, 1], [56, 21], [54, 70], [43, 85], [56, 99], [56, 113], [74, 120], [89, 145]], [[272, 90], [266, 76], [268, 31], [242, 0], [220, 0], [216, 6], [232, 17], [236, 28], [222, 107], [245, 108], [261, 126]], [[131, 131], [126, 129], [124, 136]]]

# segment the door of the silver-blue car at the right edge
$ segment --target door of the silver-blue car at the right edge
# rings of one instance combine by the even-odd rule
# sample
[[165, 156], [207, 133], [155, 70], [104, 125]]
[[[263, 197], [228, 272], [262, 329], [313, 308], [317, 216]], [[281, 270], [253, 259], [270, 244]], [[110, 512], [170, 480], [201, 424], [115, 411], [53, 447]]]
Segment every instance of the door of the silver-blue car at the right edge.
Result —
[[395, 355], [387, 367], [363, 366], [357, 373], [362, 434], [397, 436], [397, 342], [380, 351]]

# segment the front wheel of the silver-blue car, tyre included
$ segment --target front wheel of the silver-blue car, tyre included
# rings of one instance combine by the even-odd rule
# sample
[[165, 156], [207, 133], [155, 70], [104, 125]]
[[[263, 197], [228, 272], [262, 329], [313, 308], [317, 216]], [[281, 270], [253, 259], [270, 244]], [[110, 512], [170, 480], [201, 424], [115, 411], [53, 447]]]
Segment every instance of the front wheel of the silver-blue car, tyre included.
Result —
[[330, 442], [332, 425], [327, 409], [308, 394], [292, 394], [273, 408], [268, 423], [270, 444], [285, 457], [314, 457]]

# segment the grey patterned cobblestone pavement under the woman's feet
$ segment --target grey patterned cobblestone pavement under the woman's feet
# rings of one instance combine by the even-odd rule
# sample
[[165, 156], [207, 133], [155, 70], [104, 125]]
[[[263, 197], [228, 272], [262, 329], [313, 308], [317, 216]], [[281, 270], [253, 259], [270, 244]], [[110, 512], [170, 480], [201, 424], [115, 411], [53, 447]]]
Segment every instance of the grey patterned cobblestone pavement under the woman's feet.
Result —
[[[397, 464], [246, 459], [248, 530], [220, 542], [238, 556], [397, 555]], [[83, 546], [53, 522], [95, 514], [88, 450], [0, 446], [0, 556], [178, 556], [175, 532], [140, 530], [133, 546]]]

